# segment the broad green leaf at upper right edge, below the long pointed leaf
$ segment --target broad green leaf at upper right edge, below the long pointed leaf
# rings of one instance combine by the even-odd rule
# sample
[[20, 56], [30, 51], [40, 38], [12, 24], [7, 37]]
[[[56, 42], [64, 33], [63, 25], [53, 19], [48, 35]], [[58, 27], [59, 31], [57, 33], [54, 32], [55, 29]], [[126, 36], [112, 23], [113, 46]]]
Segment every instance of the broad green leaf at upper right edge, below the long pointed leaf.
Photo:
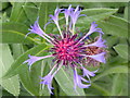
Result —
[[121, 17], [109, 16], [107, 20], [99, 22], [99, 27], [105, 34], [128, 38], [128, 22]]

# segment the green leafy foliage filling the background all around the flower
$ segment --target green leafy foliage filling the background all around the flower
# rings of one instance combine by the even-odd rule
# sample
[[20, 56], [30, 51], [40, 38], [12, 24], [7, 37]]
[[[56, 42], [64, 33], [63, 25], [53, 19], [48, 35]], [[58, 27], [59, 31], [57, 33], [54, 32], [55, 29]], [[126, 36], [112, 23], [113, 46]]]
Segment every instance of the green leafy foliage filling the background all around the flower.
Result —
[[[13, 96], [51, 96], [47, 88], [39, 84], [39, 76], [46, 76], [52, 66], [52, 59], [40, 60], [32, 64], [31, 71], [23, 64], [31, 56], [47, 56], [51, 47], [36, 35], [28, 35], [28, 28], [39, 16], [41, 28], [49, 21], [56, 7], [68, 8], [78, 4], [83, 9], [76, 27], [81, 33], [87, 33], [92, 22], [96, 22], [104, 32], [107, 48], [107, 63], [102, 64], [96, 75], [91, 78], [92, 86], [87, 89], [77, 87], [74, 90], [73, 71], [62, 68], [53, 79], [54, 96], [127, 96], [128, 95], [128, 9], [127, 3], [105, 2], [4, 2], [0, 12], [2, 37], [0, 51], [0, 85], [3, 95]], [[60, 14], [61, 27], [65, 24], [63, 14]], [[57, 34], [56, 26], [49, 24], [47, 34]], [[3, 69], [5, 68], [5, 69]], [[20, 79], [18, 79], [20, 78]], [[2, 81], [2, 82], [1, 82]], [[20, 85], [20, 82], [22, 85]], [[2, 83], [2, 84], [1, 84]], [[21, 91], [20, 91], [21, 90]], [[10, 93], [10, 94], [9, 94]]]

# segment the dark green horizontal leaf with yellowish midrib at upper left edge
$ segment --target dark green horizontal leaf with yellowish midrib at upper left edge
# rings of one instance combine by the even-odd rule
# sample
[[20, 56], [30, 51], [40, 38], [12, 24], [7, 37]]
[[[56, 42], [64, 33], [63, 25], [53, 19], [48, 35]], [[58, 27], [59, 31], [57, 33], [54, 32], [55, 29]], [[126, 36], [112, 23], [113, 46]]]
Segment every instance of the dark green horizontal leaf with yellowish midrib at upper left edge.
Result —
[[3, 44], [37, 44], [30, 36], [26, 37], [28, 27], [20, 23], [3, 23], [0, 35]]

